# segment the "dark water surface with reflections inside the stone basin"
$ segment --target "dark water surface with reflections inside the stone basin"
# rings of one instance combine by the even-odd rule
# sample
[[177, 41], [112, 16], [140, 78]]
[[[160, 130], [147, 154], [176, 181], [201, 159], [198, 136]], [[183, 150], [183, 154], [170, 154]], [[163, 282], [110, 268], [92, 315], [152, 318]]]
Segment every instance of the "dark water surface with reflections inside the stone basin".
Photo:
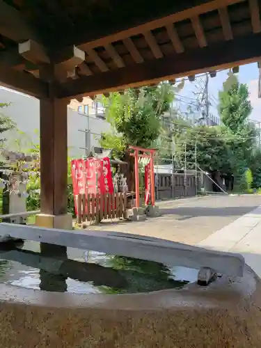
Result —
[[0, 248], [2, 283], [49, 292], [151, 292], [183, 287], [197, 274], [196, 269], [35, 242]]

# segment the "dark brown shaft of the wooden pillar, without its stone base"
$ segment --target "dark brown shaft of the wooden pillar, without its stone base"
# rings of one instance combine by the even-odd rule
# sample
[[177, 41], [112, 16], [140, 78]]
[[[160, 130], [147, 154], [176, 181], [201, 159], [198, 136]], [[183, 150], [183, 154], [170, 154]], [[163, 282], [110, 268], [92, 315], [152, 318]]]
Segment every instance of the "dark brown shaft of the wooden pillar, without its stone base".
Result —
[[67, 212], [67, 104], [40, 101], [41, 212]]

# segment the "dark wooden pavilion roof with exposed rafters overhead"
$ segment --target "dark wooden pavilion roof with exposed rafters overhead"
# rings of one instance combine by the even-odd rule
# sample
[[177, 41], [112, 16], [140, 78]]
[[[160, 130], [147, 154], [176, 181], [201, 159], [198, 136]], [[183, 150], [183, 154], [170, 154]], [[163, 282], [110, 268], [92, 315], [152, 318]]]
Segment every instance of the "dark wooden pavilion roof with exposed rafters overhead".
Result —
[[0, 84], [64, 99], [214, 76], [259, 61], [260, 8], [260, 0], [0, 0]]

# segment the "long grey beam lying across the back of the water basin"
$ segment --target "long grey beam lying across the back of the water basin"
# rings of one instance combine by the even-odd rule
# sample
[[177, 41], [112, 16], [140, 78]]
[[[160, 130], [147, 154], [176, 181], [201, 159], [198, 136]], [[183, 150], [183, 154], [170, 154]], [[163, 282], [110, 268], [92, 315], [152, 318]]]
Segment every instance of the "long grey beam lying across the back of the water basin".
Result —
[[122, 232], [61, 230], [0, 223], [0, 235], [54, 245], [93, 250], [110, 255], [161, 262], [193, 269], [209, 267], [219, 274], [243, 276], [244, 258], [237, 253], [212, 251], [198, 246]]

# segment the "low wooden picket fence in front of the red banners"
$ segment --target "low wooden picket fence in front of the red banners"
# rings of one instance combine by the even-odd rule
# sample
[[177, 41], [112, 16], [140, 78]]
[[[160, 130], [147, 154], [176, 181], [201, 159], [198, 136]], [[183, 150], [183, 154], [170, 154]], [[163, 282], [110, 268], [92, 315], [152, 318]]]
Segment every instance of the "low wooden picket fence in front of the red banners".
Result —
[[88, 194], [77, 196], [77, 222], [124, 218], [127, 209], [126, 193]]

